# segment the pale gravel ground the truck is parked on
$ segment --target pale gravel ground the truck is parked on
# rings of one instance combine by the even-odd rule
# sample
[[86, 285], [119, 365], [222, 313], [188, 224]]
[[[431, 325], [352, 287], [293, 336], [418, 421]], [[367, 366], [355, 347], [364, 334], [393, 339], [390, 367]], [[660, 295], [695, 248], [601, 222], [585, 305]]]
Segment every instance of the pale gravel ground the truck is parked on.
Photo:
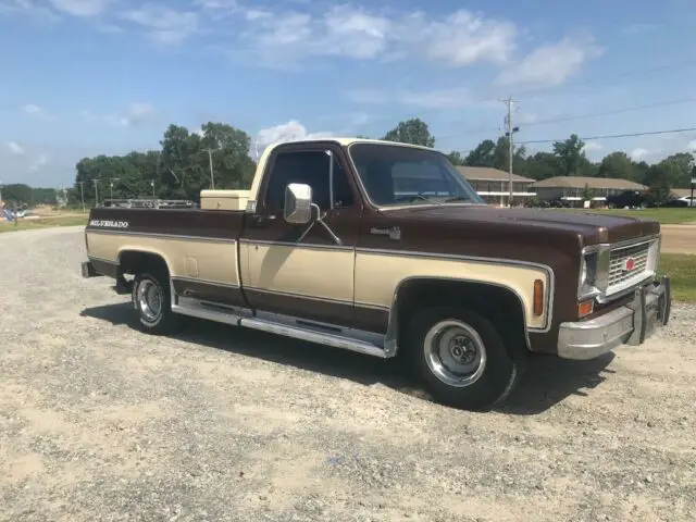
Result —
[[458, 411], [393, 364], [132, 327], [79, 228], [0, 235], [2, 521], [696, 520], [696, 307]]

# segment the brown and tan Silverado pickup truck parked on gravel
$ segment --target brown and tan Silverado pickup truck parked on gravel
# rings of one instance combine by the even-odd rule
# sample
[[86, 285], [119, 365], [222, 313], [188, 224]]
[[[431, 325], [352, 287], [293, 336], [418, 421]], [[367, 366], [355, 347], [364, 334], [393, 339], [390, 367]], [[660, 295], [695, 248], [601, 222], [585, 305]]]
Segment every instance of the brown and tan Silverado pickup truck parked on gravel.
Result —
[[487, 409], [530, 352], [596, 358], [670, 314], [655, 221], [498, 209], [433, 149], [268, 147], [250, 190], [200, 208], [94, 208], [85, 277], [115, 278], [145, 331], [191, 315], [380, 358], [443, 403]]

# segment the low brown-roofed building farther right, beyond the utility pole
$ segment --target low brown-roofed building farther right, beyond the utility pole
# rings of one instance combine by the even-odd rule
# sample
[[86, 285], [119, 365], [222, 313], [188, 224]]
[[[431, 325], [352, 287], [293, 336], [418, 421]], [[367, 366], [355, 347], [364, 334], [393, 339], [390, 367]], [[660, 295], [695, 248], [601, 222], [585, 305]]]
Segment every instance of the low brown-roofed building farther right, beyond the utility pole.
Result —
[[629, 179], [616, 177], [557, 176], [540, 179], [531, 184], [531, 189], [542, 200], [560, 199], [572, 206], [582, 207], [585, 190], [589, 191], [591, 201], [602, 204], [608, 196], [625, 190], [646, 191], [648, 187]]

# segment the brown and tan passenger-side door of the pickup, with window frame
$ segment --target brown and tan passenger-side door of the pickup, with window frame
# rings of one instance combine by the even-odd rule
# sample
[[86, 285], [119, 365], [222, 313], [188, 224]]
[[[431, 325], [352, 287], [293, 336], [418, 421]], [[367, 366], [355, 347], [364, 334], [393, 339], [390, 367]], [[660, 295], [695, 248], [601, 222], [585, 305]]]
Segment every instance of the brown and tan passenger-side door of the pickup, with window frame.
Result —
[[[334, 162], [333, 209], [330, 161]], [[362, 203], [348, 172], [346, 157], [336, 144], [286, 144], [271, 153], [256, 212], [247, 216], [240, 241], [246, 264], [241, 268], [243, 285], [251, 308], [336, 326], [352, 325], [355, 250]], [[312, 187], [313, 202], [325, 213], [323, 221], [340, 245], [320, 223], [298, 225], [283, 219], [289, 183]]]

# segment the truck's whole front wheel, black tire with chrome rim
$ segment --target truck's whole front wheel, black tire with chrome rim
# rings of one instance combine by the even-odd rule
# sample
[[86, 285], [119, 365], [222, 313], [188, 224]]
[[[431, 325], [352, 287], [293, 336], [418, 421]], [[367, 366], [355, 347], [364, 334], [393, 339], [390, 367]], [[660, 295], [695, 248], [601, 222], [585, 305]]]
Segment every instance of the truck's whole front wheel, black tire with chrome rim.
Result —
[[456, 408], [484, 410], [501, 402], [521, 373], [493, 322], [470, 310], [434, 307], [418, 311], [403, 348], [434, 398]]

